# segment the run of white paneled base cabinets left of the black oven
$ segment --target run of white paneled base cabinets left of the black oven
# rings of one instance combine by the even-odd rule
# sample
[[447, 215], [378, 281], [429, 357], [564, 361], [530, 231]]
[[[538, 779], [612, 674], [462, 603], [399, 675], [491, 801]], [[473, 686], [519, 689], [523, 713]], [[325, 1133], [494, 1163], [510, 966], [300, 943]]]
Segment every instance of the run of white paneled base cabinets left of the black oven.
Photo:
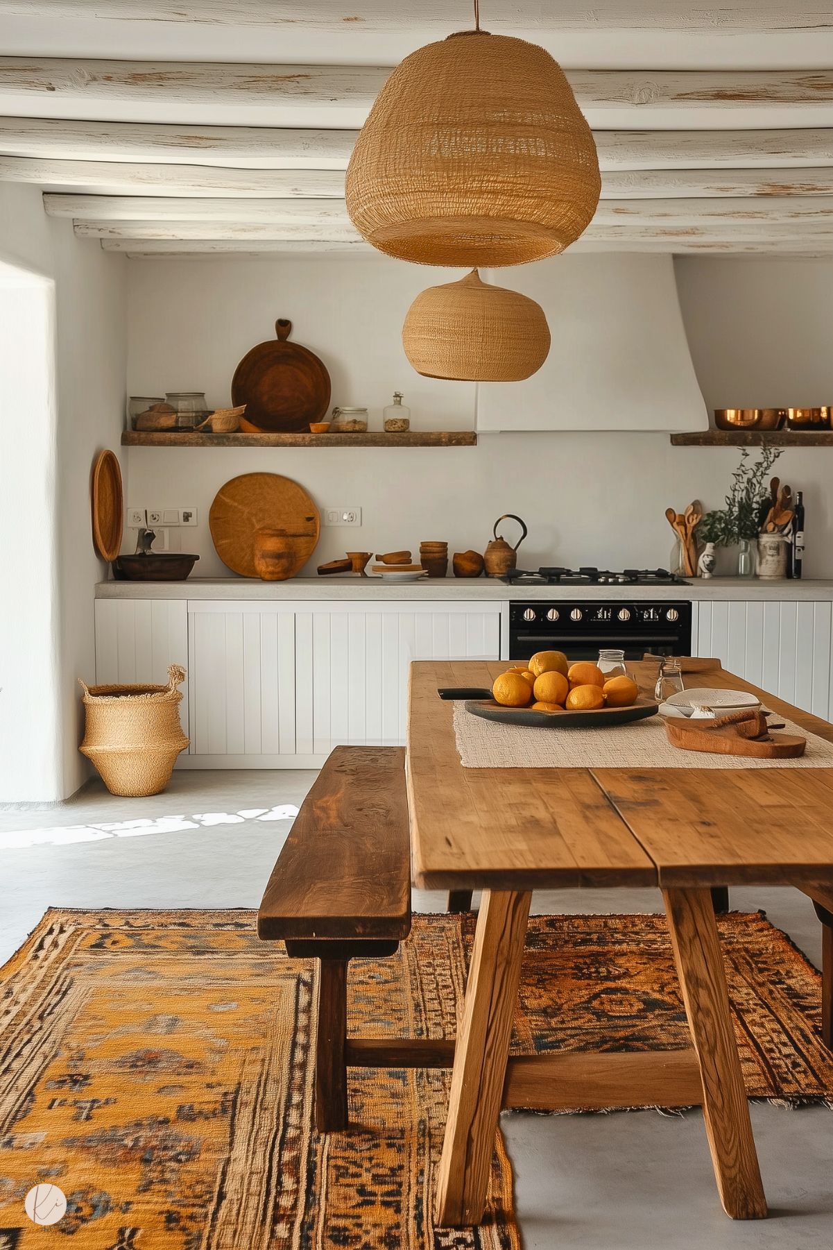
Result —
[[[180, 614], [175, 639], [161, 620], [155, 641], [144, 636], [157, 608]], [[107, 680], [164, 680], [172, 659], [187, 668], [185, 768], [310, 768], [340, 744], [401, 744], [411, 660], [501, 654], [500, 604], [99, 600], [96, 609], [106, 609], [96, 612], [97, 652], [119, 659]], [[131, 666], [136, 654], [152, 658], [152, 671]]]

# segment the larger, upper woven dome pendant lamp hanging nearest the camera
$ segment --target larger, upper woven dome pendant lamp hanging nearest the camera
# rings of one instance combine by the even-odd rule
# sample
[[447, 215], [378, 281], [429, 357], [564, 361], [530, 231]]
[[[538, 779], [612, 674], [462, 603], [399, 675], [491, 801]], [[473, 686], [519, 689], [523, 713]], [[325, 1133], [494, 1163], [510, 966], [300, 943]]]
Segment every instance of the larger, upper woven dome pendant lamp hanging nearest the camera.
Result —
[[599, 189], [593, 135], [558, 64], [477, 29], [393, 70], [356, 140], [346, 200], [380, 251], [495, 266], [563, 251]]

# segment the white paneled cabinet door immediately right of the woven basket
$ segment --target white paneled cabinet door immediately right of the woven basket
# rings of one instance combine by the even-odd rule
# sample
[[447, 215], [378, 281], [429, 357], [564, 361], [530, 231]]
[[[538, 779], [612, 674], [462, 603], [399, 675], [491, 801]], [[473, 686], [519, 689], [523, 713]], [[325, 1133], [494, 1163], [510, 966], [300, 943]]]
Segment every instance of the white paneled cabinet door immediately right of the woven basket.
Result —
[[192, 600], [192, 765], [313, 765], [308, 651], [298, 646], [292, 604]]

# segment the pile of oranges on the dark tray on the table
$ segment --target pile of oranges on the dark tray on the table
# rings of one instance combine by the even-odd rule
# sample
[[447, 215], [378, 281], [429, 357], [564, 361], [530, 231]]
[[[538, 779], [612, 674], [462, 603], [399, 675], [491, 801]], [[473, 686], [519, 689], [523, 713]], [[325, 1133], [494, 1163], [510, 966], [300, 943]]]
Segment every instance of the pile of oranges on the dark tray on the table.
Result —
[[492, 686], [492, 698], [505, 708], [553, 712], [627, 708], [638, 695], [631, 678], [606, 679], [596, 664], [571, 664], [563, 651], [538, 651], [526, 666], [502, 672]]

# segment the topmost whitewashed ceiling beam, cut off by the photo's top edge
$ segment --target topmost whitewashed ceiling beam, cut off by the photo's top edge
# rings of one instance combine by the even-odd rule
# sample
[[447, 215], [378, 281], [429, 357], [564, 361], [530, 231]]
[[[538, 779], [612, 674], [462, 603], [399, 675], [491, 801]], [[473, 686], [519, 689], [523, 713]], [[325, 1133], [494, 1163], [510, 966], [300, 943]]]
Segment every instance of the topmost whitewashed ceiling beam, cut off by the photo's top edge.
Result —
[[[821, 0], [723, 0], [717, 5], [689, 0], [558, 0], [550, 4], [510, 4], [491, 0], [483, 6], [483, 26], [491, 30], [530, 31], [701, 31], [767, 32], [833, 30], [833, 12]], [[343, 34], [346, 38], [377, 31], [417, 28], [447, 34], [471, 26], [468, 0], [448, 4], [431, 0], [406, 5], [401, 0], [0, 0], [0, 14], [26, 18], [106, 18], [110, 21], [201, 22], [255, 25]]]

